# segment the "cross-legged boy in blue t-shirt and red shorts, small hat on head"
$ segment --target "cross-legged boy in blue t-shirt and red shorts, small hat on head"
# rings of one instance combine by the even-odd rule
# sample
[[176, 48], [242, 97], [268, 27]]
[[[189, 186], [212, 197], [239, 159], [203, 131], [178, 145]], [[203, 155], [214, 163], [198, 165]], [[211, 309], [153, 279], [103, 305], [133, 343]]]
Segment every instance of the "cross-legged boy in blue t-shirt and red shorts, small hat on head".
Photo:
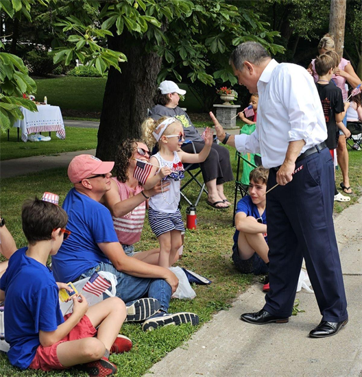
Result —
[[67, 213], [58, 206], [58, 195], [45, 193], [42, 200], [25, 202], [21, 217], [28, 246], [10, 257], [0, 279], [10, 363], [43, 371], [84, 364], [89, 376], [111, 376], [117, 367], [108, 360], [109, 354], [132, 347], [130, 339], [117, 336], [125, 304], [112, 297], [88, 307], [79, 295], [73, 297], [73, 313], [63, 318], [59, 289], [71, 289], [54, 280], [47, 260], [70, 234], [65, 229]]

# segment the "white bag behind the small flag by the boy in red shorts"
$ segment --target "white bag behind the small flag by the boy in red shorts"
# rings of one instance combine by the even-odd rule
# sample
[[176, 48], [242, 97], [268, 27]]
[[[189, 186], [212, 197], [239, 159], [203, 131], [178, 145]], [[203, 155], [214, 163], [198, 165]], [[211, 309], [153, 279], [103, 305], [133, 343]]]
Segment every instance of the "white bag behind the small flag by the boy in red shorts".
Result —
[[[107, 271], [99, 271], [98, 275], [101, 276], [102, 278], [107, 279], [110, 284], [111, 284], [111, 289], [107, 289], [104, 293], [108, 295], [109, 297], [114, 297], [116, 295], [116, 288], [117, 288], [117, 278], [114, 275], [114, 273], [107, 272]], [[83, 291], [84, 285], [88, 282], [89, 278], [84, 278], [82, 280], [78, 280], [77, 282], [73, 283], [75, 289], [79, 293], [82, 293], [84, 297], [86, 297], [86, 300], [88, 302], [89, 306], [98, 304], [98, 302], [101, 302], [103, 300], [103, 294], [97, 296], [93, 295], [93, 293]], [[71, 313], [73, 310], [73, 300], [68, 301], [68, 302], [59, 302], [60, 304], [60, 311], [62, 311], [62, 315], [66, 315], [68, 313]]]

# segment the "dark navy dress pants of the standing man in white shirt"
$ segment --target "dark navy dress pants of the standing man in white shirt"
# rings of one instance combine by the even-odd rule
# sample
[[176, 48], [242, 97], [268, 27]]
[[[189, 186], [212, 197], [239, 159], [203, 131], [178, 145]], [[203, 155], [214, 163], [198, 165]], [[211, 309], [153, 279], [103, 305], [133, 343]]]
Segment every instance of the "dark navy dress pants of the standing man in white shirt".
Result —
[[[270, 291], [264, 309], [289, 317], [302, 259], [324, 321], [348, 318], [341, 262], [333, 225], [334, 166], [328, 148], [296, 162], [285, 186], [267, 194]], [[276, 184], [270, 169], [268, 188]]]

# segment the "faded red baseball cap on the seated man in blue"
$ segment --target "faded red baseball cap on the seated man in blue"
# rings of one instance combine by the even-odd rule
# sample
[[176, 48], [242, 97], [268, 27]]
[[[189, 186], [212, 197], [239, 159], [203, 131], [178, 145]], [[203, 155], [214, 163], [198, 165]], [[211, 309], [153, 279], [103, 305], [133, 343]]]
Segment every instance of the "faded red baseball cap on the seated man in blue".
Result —
[[68, 167], [68, 177], [72, 183], [80, 182], [91, 174], [106, 174], [114, 167], [113, 161], [102, 161], [90, 154], [75, 156]]

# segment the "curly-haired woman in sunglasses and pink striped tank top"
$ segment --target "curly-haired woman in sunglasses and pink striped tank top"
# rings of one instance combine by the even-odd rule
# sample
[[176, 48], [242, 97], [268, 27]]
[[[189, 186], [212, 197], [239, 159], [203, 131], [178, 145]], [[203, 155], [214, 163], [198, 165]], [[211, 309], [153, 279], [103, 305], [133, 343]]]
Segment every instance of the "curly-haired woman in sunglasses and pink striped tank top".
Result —
[[[125, 254], [157, 265], [160, 249], [134, 252], [134, 243], [141, 239], [147, 199], [161, 192], [160, 184], [153, 189], [143, 190], [133, 176], [136, 159], [148, 161], [149, 149], [141, 141], [127, 138], [119, 145], [114, 161], [115, 177], [111, 178], [110, 191], [102, 200], [112, 214], [114, 229]], [[165, 185], [165, 191], [168, 185]]]

